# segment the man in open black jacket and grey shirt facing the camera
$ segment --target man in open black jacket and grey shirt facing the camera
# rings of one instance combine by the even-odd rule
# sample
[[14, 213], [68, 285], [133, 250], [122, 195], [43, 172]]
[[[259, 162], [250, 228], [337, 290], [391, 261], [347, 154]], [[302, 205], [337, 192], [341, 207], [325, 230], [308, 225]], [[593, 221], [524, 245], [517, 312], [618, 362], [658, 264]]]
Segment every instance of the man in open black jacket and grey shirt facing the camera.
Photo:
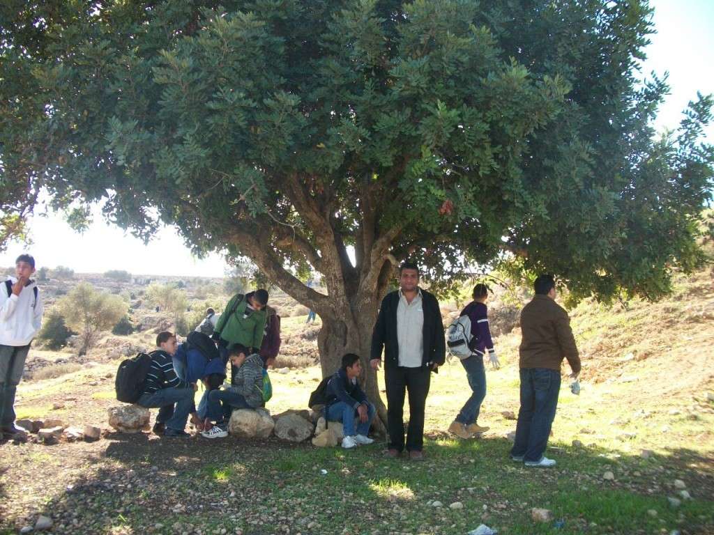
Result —
[[418, 284], [417, 265], [403, 263], [399, 268], [399, 290], [388, 293], [379, 308], [370, 361], [372, 369], [378, 370], [384, 348], [388, 457], [398, 457], [404, 449], [404, 395], [408, 392], [406, 449], [415, 461], [423, 459], [424, 409], [430, 373], [436, 372], [446, 357], [439, 303]]

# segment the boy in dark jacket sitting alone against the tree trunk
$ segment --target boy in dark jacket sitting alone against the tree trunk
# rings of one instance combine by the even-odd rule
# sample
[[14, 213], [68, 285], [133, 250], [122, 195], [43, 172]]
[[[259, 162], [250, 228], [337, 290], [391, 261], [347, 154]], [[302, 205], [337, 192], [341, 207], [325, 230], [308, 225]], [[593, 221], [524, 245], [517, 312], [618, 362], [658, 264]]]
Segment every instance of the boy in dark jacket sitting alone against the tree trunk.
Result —
[[[345, 434], [342, 447], [345, 449], [374, 442], [367, 434], [376, 409], [357, 382], [361, 373], [360, 358], [354, 353], [347, 353], [342, 357], [342, 367], [327, 384], [327, 419], [342, 422]], [[359, 419], [356, 429], [355, 415]]]

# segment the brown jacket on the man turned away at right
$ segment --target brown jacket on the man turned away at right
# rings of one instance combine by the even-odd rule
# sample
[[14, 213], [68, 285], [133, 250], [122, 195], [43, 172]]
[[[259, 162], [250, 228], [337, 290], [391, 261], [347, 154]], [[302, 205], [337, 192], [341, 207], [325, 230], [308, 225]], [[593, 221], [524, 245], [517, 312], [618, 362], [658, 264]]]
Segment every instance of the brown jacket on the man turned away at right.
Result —
[[580, 357], [568, 312], [547, 295], [536, 294], [523, 307], [521, 333], [519, 367], [559, 372], [560, 362], [565, 358], [573, 372], [580, 372]]

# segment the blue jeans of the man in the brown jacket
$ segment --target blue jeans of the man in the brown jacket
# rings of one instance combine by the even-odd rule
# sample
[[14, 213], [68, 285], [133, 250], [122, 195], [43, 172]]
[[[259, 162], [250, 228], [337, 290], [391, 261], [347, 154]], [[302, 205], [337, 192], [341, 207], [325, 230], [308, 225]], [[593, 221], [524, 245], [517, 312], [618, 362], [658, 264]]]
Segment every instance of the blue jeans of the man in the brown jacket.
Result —
[[538, 462], [548, 445], [560, 392], [560, 372], [547, 368], [521, 369], [521, 409], [511, 455]]

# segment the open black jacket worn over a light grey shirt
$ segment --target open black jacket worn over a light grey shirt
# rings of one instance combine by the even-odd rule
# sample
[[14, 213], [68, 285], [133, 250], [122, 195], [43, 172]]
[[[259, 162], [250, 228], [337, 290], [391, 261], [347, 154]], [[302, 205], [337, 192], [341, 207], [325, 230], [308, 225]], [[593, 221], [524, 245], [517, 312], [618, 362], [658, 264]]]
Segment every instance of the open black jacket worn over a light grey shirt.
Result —
[[[444, 326], [441, 322], [441, 311], [436, 297], [426, 290], [421, 290], [422, 308], [424, 311], [424, 327], [422, 330], [424, 354], [421, 363], [423, 366], [438, 364], [443, 365], [446, 360], [446, 342]], [[399, 342], [397, 340], [397, 307], [399, 305], [399, 291], [390, 292], [384, 296], [379, 307], [379, 315], [372, 332], [372, 360], [382, 358], [384, 347], [384, 366], [397, 367], [399, 365]]]

